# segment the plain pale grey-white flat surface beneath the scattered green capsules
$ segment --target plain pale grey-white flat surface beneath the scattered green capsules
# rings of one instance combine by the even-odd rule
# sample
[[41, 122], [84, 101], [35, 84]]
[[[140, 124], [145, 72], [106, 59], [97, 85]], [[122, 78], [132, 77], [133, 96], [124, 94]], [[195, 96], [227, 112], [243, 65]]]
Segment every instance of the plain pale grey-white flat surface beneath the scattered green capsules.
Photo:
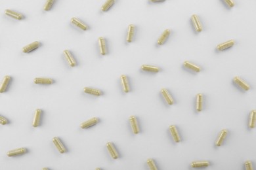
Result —
[[[0, 162], [5, 170], [148, 169], [153, 158], [158, 169], [192, 169], [190, 162], [209, 160], [206, 169], [256, 167], [256, 129], [249, 129], [249, 112], [256, 108], [256, 1], [235, 0], [229, 9], [221, 0], [117, 0], [107, 12], [105, 0], [56, 0], [45, 12], [45, 1], [0, 1], [0, 77], [11, 76], [7, 92], [0, 94], [0, 115], [9, 124], [0, 126]], [[24, 20], [5, 16], [11, 9]], [[196, 33], [190, 17], [198, 14], [203, 31]], [[82, 31], [70, 23], [85, 22]], [[129, 24], [135, 25], [134, 41], [125, 41]], [[156, 44], [164, 29], [171, 35]], [[106, 39], [108, 54], [101, 56], [98, 37]], [[236, 44], [217, 52], [217, 44], [234, 39]], [[41, 42], [24, 54], [22, 47]], [[76, 67], [70, 67], [63, 51], [70, 50]], [[184, 61], [202, 67], [191, 73]], [[145, 73], [142, 64], [156, 65], [159, 73]], [[123, 93], [119, 76], [127, 75], [131, 92]], [[49, 86], [34, 84], [35, 77], [53, 78]], [[243, 92], [232, 83], [241, 76], [251, 89]], [[102, 90], [95, 97], [85, 86]], [[175, 103], [166, 105], [161, 88]], [[203, 93], [203, 111], [195, 109], [196, 94]], [[41, 124], [32, 127], [35, 109], [42, 109]], [[134, 135], [129, 116], [138, 118]], [[96, 126], [79, 124], [98, 117]], [[181, 143], [174, 143], [169, 126], [177, 126]], [[229, 133], [223, 146], [215, 140], [221, 129]], [[68, 152], [60, 154], [52, 139], [60, 137]], [[106, 143], [113, 142], [119, 158], [113, 160]], [[9, 158], [6, 152], [26, 147], [28, 153]]]

